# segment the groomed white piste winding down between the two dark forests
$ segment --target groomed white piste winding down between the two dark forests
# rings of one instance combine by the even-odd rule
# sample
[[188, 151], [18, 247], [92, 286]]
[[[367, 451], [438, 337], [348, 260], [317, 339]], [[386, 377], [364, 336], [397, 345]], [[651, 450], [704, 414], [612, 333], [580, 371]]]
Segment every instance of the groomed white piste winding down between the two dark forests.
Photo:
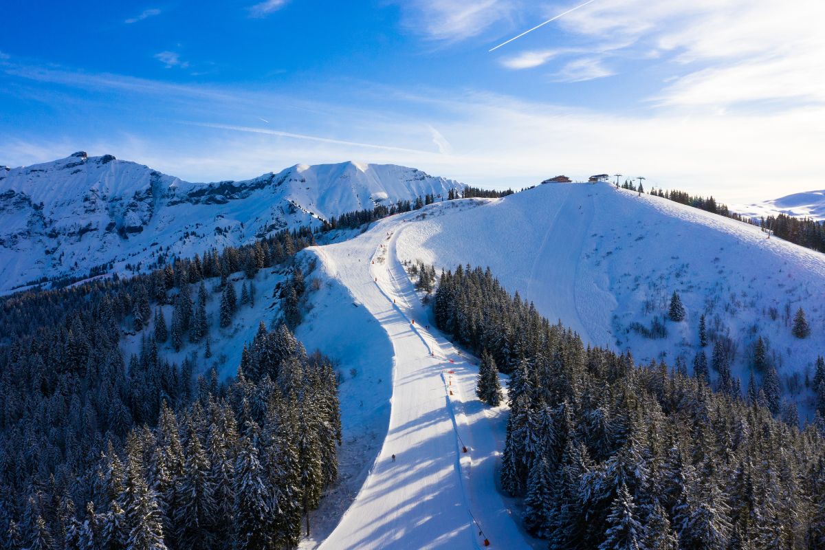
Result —
[[320, 548], [484, 548], [485, 537], [493, 548], [527, 548], [495, 487], [505, 407], [489, 408], [475, 397], [473, 360], [427, 328], [427, 313], [395, 253], [399, 234], [416, 215], [394, 216], [351, 241], [310, 249], [392, 343], [392, 356], [373, 357], [392, 372], [384, 443]]

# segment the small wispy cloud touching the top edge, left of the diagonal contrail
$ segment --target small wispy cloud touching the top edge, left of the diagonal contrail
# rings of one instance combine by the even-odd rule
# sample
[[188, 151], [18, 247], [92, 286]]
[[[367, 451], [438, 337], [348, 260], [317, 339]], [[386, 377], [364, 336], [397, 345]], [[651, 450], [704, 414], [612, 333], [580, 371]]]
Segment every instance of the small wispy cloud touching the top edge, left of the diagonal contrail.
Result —
[[458, 42], [487, 31], [515, 10], [512, 0], [398, 0], [405, 26], [431, 40]]

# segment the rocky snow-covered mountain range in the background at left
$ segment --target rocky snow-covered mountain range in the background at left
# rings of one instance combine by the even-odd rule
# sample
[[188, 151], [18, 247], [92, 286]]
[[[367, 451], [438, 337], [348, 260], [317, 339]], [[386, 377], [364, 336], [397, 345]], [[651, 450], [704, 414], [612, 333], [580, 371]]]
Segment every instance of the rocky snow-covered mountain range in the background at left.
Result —
[[0, 167], [0, 292], [92, 268], [145, 267], [376, 204], [462, 187], [415, 168], [344, 162], [190, 183], [111, 155]]

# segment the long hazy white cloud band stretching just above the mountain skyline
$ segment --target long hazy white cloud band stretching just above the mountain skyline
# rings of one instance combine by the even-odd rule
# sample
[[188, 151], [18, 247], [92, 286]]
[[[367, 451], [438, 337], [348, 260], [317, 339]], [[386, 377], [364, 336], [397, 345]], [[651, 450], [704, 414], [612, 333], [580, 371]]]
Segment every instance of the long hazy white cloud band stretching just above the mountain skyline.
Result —
[[[97, 124], [91, 131], [75, 125], [54, 136], [0, 126], [0, 151], [7, 153], [3, 163], [59, 158], [83, 149], [144, 162], [189, 181], [216, 181], [296, 162], [365, 159], [502, 187], [530, 185], [557, 173], [620, 172], [647, 176], [645, 183], [657, 187], [713, 193], [728, 203], [821, 188], [825, 106], [726, 115], [715, 110], [686, 115], [664, 106], [610, 115], [512, 96], [397, 90], [365, 82], [350, 87], [336, 82], [335, 94], [325, 95], [335, 100], [313, 102], [240, 87], [183, 86], [50, 68], [3, 67], [0, 72], [15, 77], [21, 87], [34, 79], [118, 92], [79, 94], [82, 99], [72, 98], [74, 113], [106, 113], [112, 106], [108, 101], [114, 101], [108, 98], [114, 97], [121, 110], [141, 113], [140, 121], [113, 119], [117, 124]], [[250, 127], [262, 112], [278, 129]], [[184, 118], [200, 125], [175, 123]], [[155, 125], [155, 120], [165, 124]], [[422, 120], [438, 120], [437, 130]], [[14, 145], [24, 139], [41, 146]]]

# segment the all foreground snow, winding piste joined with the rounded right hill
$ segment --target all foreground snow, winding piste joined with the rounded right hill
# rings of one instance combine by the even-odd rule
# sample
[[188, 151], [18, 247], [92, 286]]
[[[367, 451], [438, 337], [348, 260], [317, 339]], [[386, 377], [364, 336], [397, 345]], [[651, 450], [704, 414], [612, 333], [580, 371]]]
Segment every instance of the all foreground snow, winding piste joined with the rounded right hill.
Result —
[[[332, 533], [317, 532], [306, 548], [321, 539], [320, 548], [329, 550], [484, 548], [485, 538], [492, 548], [544, 547], [525, 534], [512, 501], [497, 490], [507, 407], [479, 402], [476, 360], [431, 326], [403, 261], [439, 270], [490, 266], [545, 317], [561, 319], [592, 345], [629, 348], [637, 361], [662, 359], [661, 352], [671, 366], [678, 354], [690, 359], [700, 313], [718, 316], [723, 324], [716, 329], [739, 346], [734, 374], [743, 386], [748, 346], [761, 334], [775, 350], [786, 397], [802, 413], [805, 393], [785, 384], [825, 349], [818, 306], [825, 256], [768, 239], [746, 223], [606, 184], [431, 204], [308, 253], [317, 256], [328, 290], [314, 299], [299, 337], [309, 349], [322, 347], [346, 366], [369, 370], [342, 382], [345, 440], [358, 444], [365, 431], [385, 437], [365, 464], [342, 470], [350, 487], [363, 478], [361, 489], [346, 512], [338, 502], [340, 521], [323, 529]], [[669, 322], [659, 340], [628, 330], [630, 322], [661, 315], [648, 308], [666, 308], [673, 290], [686, 304], [685, 322]], [[785, 318], [799, 305], [813, 327], [804, 341], [790, 336]], [[392, 388], [381, 383], [384, 375]]]

